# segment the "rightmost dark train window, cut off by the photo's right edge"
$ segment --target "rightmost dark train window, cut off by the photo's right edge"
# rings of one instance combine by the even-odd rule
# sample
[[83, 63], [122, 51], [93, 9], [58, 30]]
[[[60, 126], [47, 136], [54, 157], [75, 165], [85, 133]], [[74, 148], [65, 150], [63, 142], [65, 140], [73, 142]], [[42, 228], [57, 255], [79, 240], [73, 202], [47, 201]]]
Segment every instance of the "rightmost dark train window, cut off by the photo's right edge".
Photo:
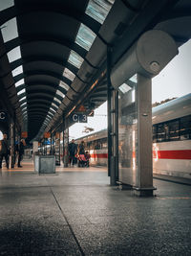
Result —
[[191, 115], [180, 118], [180, 139], [191, 139]]

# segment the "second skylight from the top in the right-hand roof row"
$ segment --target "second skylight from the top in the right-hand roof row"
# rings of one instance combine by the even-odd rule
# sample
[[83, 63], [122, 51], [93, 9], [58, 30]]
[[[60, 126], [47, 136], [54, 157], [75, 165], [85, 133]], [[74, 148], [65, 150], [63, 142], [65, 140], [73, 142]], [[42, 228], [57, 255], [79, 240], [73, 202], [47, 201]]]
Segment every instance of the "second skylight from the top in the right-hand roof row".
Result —
[[96, 34], [83, 23], [81, 23], [75, 42], [87, 51], [89, 51], [95, 38]]

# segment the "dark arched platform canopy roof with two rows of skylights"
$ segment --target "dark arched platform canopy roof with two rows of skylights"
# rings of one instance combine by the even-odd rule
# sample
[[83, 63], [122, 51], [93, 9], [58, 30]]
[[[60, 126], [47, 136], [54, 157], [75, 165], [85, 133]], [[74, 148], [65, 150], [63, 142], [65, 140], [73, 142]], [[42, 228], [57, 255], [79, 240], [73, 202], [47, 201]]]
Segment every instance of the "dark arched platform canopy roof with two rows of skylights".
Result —
[[147, 30], [178, 46], [191, 36], [189, 0], [7, 0], [0, 11], [0, 80], [30, 139], [106, 101], [108, 46], [114, 65]]

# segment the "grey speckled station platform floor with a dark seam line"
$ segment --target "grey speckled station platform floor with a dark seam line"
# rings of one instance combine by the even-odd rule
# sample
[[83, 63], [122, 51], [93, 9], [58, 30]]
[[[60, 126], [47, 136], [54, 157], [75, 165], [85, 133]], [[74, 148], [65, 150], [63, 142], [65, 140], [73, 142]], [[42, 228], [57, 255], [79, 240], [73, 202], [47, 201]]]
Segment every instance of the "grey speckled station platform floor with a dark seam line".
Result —
[[4, 167], [0, 255], [191, 255], [190, 184], [159, 178], [155, 197], [137, 198], [102, 168]]

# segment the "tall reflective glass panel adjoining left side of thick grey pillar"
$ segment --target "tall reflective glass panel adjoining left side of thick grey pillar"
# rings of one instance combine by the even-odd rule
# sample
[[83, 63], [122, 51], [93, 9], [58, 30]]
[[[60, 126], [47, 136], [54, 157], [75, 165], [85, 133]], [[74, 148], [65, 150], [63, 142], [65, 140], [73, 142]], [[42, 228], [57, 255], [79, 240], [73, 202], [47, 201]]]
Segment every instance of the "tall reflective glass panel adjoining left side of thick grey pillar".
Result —
[[119, 181], [131, 185], [136, 185], [138, 168], [136, 87], [137, 82], [134, 77], [123, 83], [118, 90], [118, 174]]

